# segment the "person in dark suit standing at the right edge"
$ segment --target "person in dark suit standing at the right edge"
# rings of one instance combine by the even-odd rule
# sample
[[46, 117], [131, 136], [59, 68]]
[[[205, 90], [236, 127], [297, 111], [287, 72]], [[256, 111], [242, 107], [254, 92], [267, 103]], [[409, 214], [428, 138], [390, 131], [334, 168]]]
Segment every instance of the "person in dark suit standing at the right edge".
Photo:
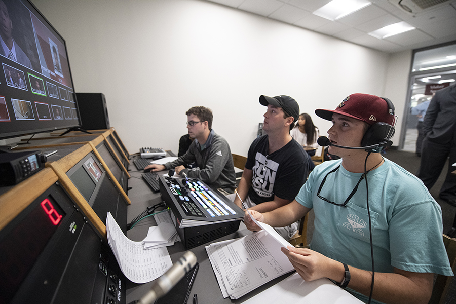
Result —
[[437, 181], [449, 157], [448, 172], [439, 197], [456, 206], [456, 85], [437, 91], [423, 122], [423, 140], [419, 177], [430, 189]]

